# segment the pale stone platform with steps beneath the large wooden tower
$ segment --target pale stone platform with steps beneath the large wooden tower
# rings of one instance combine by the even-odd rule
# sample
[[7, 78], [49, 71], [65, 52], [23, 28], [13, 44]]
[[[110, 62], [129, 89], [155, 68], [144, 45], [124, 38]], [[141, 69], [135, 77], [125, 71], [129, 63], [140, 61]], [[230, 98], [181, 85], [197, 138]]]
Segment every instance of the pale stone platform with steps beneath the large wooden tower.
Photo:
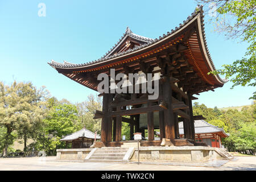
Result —
[[[58, 149], [59, 160], [107, 160], [108, 162], [137, 162], [138, 147], [102, 147], [102, 148], [71, 148]], [[223, 155], [219, 148], [203, 146], [169, 146], [169, 147], [139, 147], [141, 162], [207, 162], [217, 159], [232, 159]]]

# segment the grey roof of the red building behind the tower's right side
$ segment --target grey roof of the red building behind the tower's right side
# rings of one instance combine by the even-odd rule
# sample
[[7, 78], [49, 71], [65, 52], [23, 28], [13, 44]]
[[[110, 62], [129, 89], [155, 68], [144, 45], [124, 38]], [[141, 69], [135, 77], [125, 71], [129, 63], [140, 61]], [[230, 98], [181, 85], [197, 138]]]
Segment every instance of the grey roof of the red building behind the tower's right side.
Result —
[[[222, 128], [210, 125], [210, 123], [204, 120], [195, 120], [194, 125], [195, 125], [195, 134], [223, 132], [225, 135], [228, 136], [228, 134], [226, 134]], [[179, 134], [184, 135], [183, 122], [179, 123]]]

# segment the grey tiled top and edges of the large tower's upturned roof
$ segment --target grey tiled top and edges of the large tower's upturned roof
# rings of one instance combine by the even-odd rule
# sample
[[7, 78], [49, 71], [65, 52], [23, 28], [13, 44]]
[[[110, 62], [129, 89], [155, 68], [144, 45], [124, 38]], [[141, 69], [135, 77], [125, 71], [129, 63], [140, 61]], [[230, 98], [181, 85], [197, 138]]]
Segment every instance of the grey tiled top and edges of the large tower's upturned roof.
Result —
[[[201, 36], [203, 38], [203, 44], [204, 44], [204, 48], [205, 48], [205, 52], [206, 52], [205, 57], [209, 60], [210, 67], [212, 67], [212, 69], [215, 70], [216, 68], [214, 67], [213, 61], [212, 61], [212, 59], [210, 57], [209, 50], [208, 50], [208, 47], [207, 47], [207, 42], [206, 42], [206, 39], [205, 39], [205, 30], [204, 30], [204, 23], [203, 23], [204, 22], [203, 6], [197, 6], [195, 11], [191, 14], [191, 16], [188, 16], [187, 20], [183, 21], [183, 24], [180, 23], [179, 27], [175, 27], [175, 30], [171, 30], [171, 32], [167, 32], [167, 34], [163, 34], [162, 36], [159, 36], [159, 38], [150, 39], [150, 38], [145, 38], [143, 36], [139, 36], [139, 35], [134, 34], [133, 32], [131, 32], [130, 28], [127, 27], [125, 34], [122, 36], [121, 39], [119, 39], [119, 42], [117, 44], [115, 44], [115, 46], [112, 49], [110, 49], [109, 52], [107, 52], [103, 57], [101, 57], [98, 60], [90, 61], [90, 62], [84, 63], [84, 64], [70, 64], [70, 63], [69, 64], [67, 64], [67, 63], [66, 64], [65, 63], [61, 64], [61, 63], [57, 63], [56, 61], [52, 60], [51, 63], [48, 63], [48, 64], [51, 65], [55, 69], [56, 68], [61, 68], [61, 69], [87, 68], [87, 67], [89, 67], [91, 65], [97, 65], [97, 64], [100, 64], [101, 62], [110, 61], [112, 59], [115, 59], [116, 57], [122, 57], [123, 55], [129, 55], [129, 53], [132, 53], [132, 52], [138, 51], [140, 49], [146, 48], [148, 46], [151, 46], [152, 44], [160, 42], [162, 39], [165, 39], [165, 38], [167, 38], [169, 36], [174, 35], [181, 28], [185, 27], [196, 16], [197, 17], [200, 16]], [[134, 47], [133, 49], [129, 49], [129, 50], [124, 51], [124, 52], [119, 52], [119, 53], [117, 53], [115, 55], [110, 55], [110, 53], [113, 52], [113, 50], [118, 46], [118, 44], [120, 42], [122, 42], [122, 40], [127, 35], [129, 35], [129, 36], [131, 36], [133, 38], [137, 38], [139, 40], [143, 40], [145, 42], [145, 44], [142, 44], [141, 46], [138, 46], [138, 47]], [[226, 79], [220, 78], [219, 75], [216, 75], [215, 77], [217, 77], [219, 82], [221, 82], [222, 84], [224, 84], [225, 82], [228, 81]]]

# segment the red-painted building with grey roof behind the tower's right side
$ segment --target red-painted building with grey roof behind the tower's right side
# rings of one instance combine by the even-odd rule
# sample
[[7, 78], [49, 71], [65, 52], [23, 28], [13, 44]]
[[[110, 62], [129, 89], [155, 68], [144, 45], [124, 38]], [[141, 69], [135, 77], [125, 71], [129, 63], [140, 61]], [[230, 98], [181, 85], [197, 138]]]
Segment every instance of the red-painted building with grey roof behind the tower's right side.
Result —
[[[184, 138], [183, 122], [179, 123], [180, 138]], [[204, 120], [195, 120], [196, 142], [204, 142], [210, 147], [221, 147], [221, 138], [229, 137], [222, 128], [210, 125]]]

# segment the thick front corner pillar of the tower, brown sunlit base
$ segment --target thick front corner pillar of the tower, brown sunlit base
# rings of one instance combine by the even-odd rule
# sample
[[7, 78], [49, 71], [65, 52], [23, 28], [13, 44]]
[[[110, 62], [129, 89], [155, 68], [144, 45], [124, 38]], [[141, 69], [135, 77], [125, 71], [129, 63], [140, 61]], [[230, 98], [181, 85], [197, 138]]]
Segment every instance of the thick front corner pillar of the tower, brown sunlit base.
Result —
[[168, 109], [164, 109], [164, 130], [166, 138], [174, 143], [175, 127], [174, 127], [174, 111], [172, 109], [172, 89], [169, 76], [163, 77], [163, 101], [168, 105]]

